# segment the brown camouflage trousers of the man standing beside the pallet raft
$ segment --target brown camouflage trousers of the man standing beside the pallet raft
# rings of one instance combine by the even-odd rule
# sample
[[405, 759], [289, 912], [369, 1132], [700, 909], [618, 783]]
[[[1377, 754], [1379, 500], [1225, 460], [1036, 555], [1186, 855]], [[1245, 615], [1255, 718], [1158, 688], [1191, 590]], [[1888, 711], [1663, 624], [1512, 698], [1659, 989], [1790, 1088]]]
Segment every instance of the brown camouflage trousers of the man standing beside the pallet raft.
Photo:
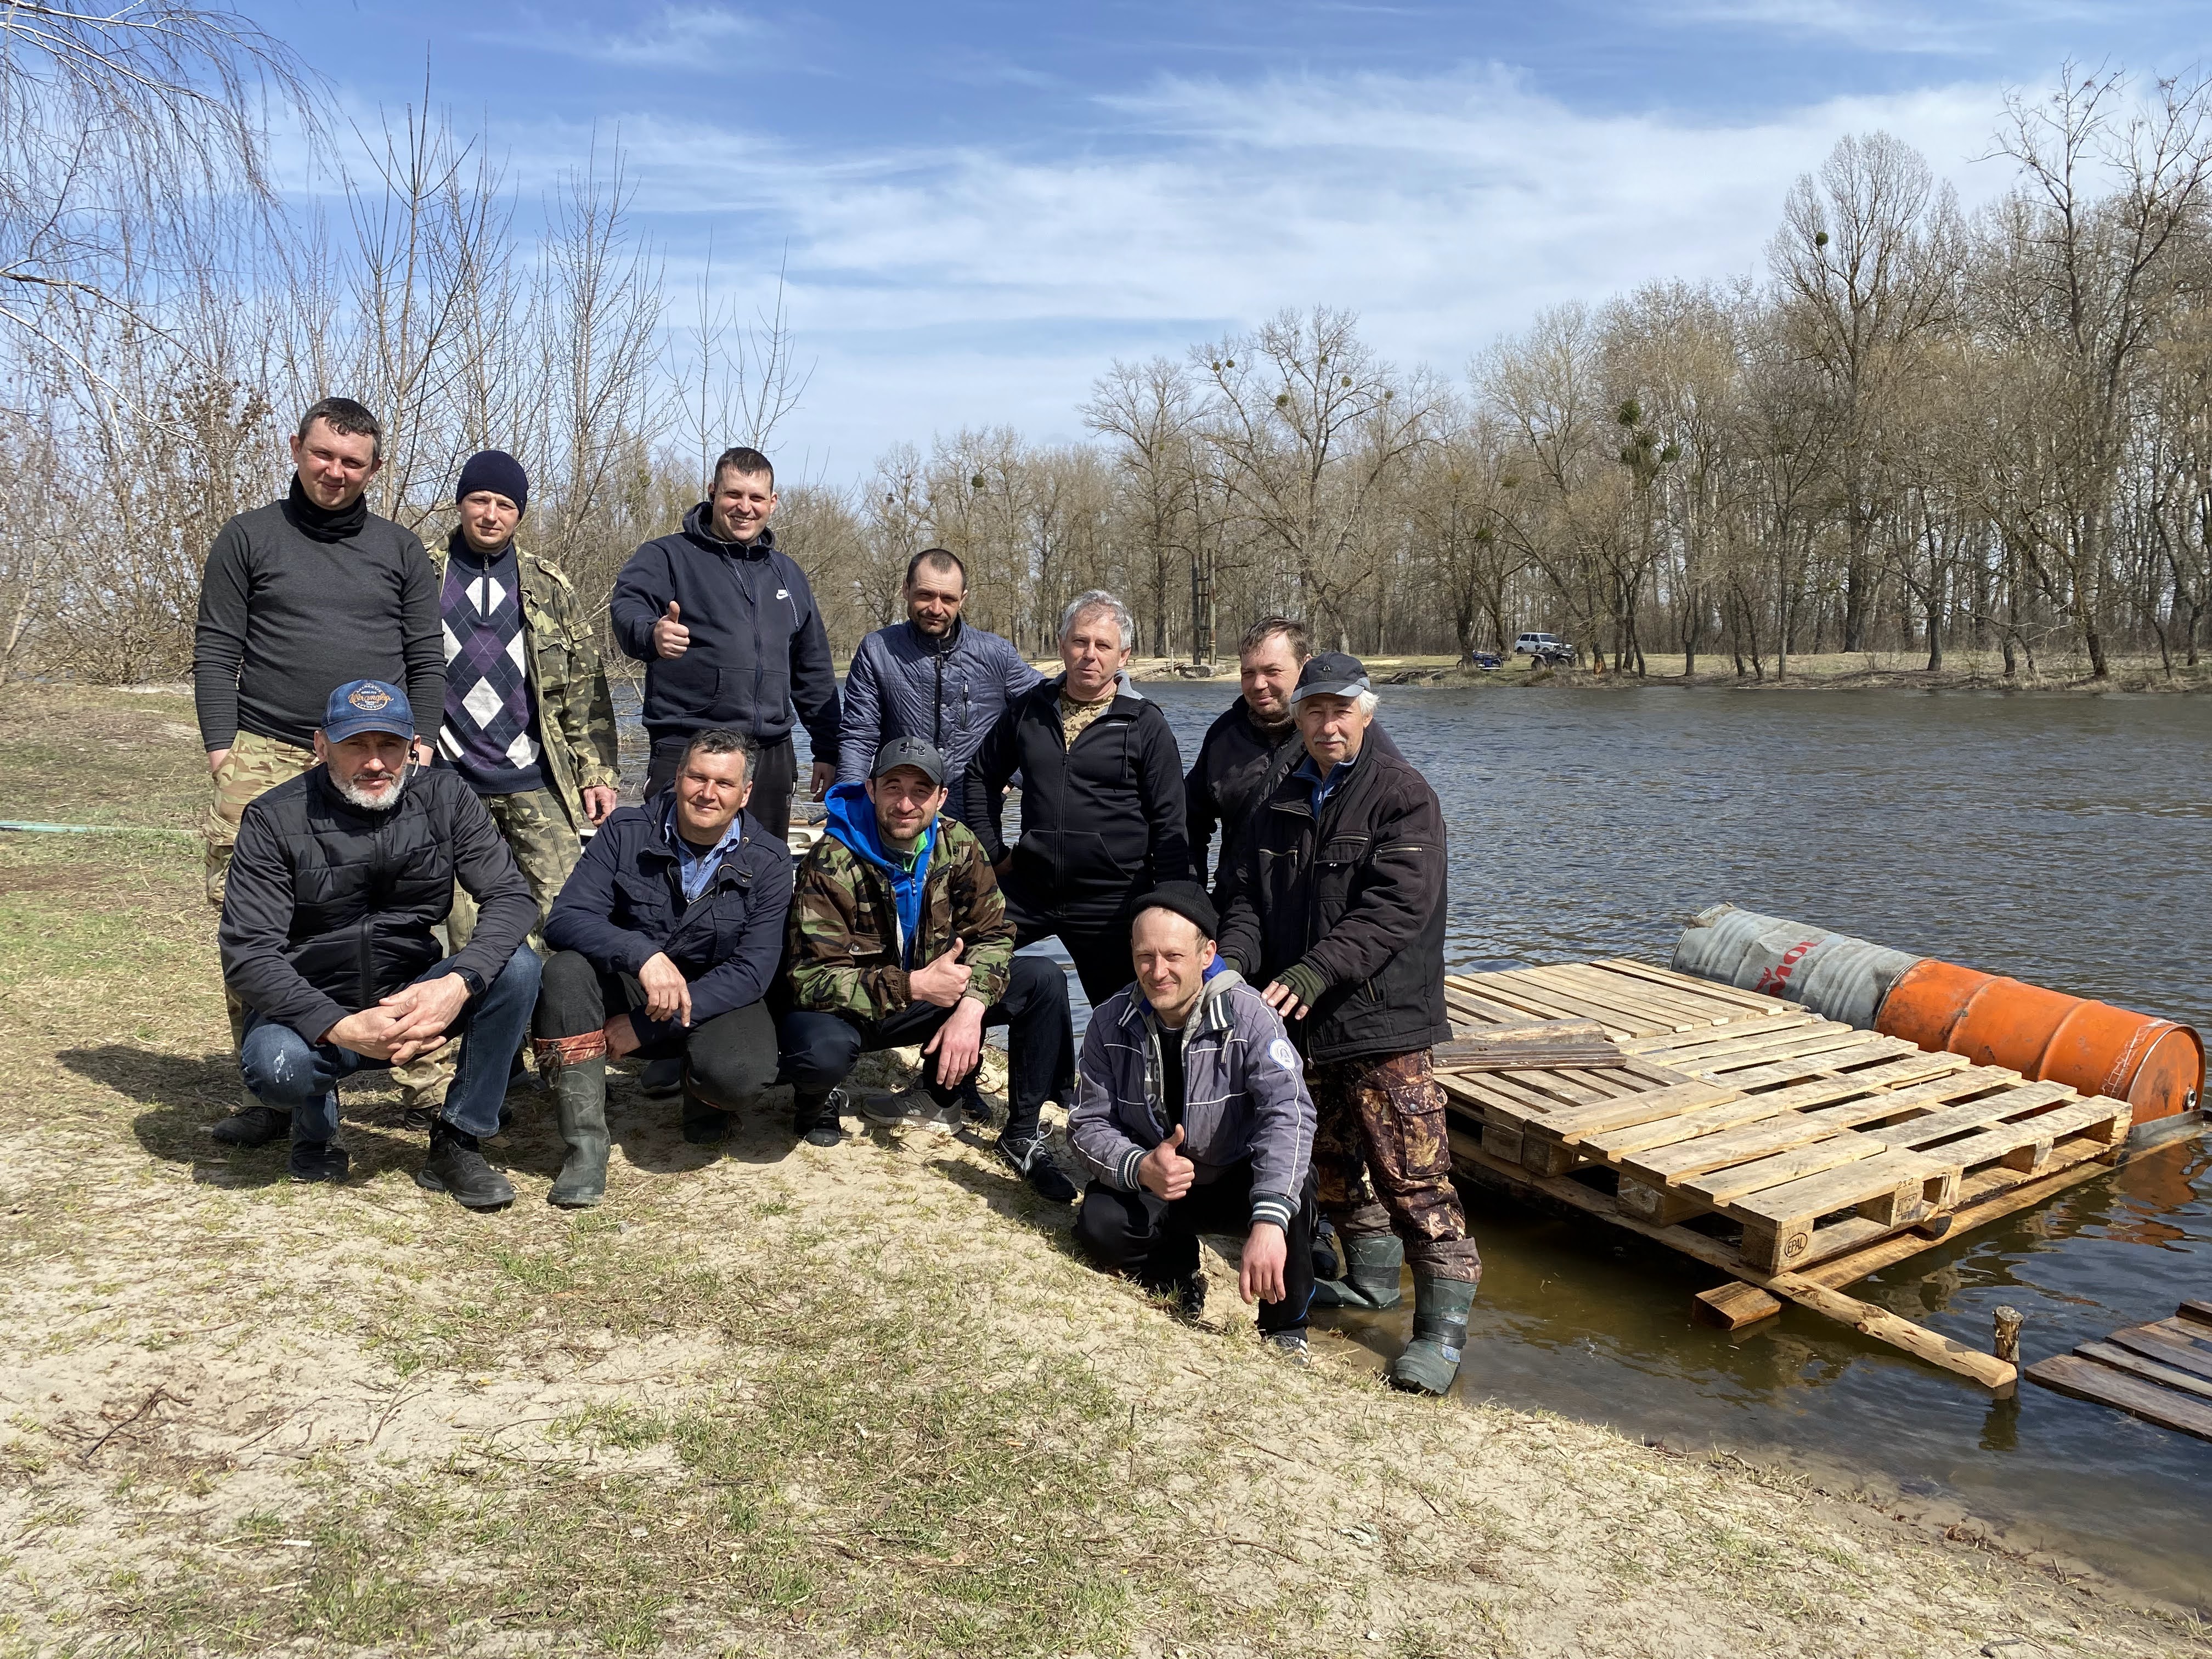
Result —
[[1451, 1186], [1444, 1088], [1429, 1068], [1429, 1051], [1327, 1060], [1305, 1082], [1316, 1113], [1321, 1214], [1347, 1237], [1396, 1232], [1413, 1272], [1482, 1279], [1482, 1256]]

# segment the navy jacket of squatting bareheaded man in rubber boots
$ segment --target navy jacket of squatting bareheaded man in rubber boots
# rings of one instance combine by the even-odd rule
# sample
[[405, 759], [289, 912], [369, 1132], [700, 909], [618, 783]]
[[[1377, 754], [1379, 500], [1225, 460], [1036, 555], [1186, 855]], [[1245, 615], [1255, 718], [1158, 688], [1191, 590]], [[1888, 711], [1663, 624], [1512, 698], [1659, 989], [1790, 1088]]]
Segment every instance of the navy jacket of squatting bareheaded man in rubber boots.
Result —
[[[553, 900], [544, 933], [555, 951], [582, 951], [599, 973], [637, 973], [666, 951], [690, 980], [692, 1026], [701, 1026], [768, 995], [792, 907], [792, 854], [745, 814], [743, 838], [686, 905], [677, 849], [661, 827], [672, 799], [664, 790], [599, 825]], [[679, 1035], [672, 1020], [644, 1013], [633, 1013], [630, 1024], [641, 1044]]]

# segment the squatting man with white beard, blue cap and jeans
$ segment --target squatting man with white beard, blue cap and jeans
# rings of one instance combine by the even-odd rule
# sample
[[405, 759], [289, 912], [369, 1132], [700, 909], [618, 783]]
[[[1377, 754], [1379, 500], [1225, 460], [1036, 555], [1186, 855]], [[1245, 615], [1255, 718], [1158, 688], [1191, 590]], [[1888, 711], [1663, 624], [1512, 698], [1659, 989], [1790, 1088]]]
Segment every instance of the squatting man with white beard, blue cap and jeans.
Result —
[[[460, 1068], [429, 1126], [420, 1186], [471, 1210], [511, 1203], [478, 1139], [500, 1128], [507, 1068], [538, 1000], [538, 918], [484, 803], [453, 772], [409, 768], [407, 692], [352, 679], [330, 692], [316, 765], [239, 818], [223, 891], [223, 984], [246, 1004], [246, 1086], [292, 1124], [292, 1177], [343, 1181], [338, 1079], [460, 1037]], [[476, 938], [431, 931], [453, 883]]]

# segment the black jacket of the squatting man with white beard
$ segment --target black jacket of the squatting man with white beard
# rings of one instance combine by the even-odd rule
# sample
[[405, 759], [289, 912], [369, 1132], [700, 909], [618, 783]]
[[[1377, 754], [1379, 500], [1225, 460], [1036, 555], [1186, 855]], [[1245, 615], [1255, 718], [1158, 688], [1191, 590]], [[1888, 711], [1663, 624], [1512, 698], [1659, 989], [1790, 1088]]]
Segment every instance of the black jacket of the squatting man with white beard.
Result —
[[453, 960], [482, 991], [538, 922], [507, 838], [458, 772], [416, 768], [398, 805], [363, 812], [301, 772], [246, 807], [223, 885], [223, 982], [307, 1042], [447, 951], [429, 929], [453, 883], [480, 905]]

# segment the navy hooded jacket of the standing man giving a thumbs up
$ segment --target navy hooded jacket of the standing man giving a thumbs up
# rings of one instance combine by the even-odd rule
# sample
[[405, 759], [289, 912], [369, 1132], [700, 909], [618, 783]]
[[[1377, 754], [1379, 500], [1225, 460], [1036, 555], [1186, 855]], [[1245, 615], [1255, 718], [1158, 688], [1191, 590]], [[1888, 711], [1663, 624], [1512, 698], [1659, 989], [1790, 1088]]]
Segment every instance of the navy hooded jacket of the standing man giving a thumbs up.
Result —
[[[836, 668], [805, 571], [776, 551], [774, 531], [741, 544], [717, 540], [710, 524], [699, 502], [677, 535], [646, 542], [615, 577], [615, 639], [646, 664], [646, 732], [690, 737], [728, 726], [763, 745], [781, 743], [799, 703], [814, 759], [834, 765]], [[681, 657], [653, 650], [653, 624], [670, 599], [692, 637]]]

